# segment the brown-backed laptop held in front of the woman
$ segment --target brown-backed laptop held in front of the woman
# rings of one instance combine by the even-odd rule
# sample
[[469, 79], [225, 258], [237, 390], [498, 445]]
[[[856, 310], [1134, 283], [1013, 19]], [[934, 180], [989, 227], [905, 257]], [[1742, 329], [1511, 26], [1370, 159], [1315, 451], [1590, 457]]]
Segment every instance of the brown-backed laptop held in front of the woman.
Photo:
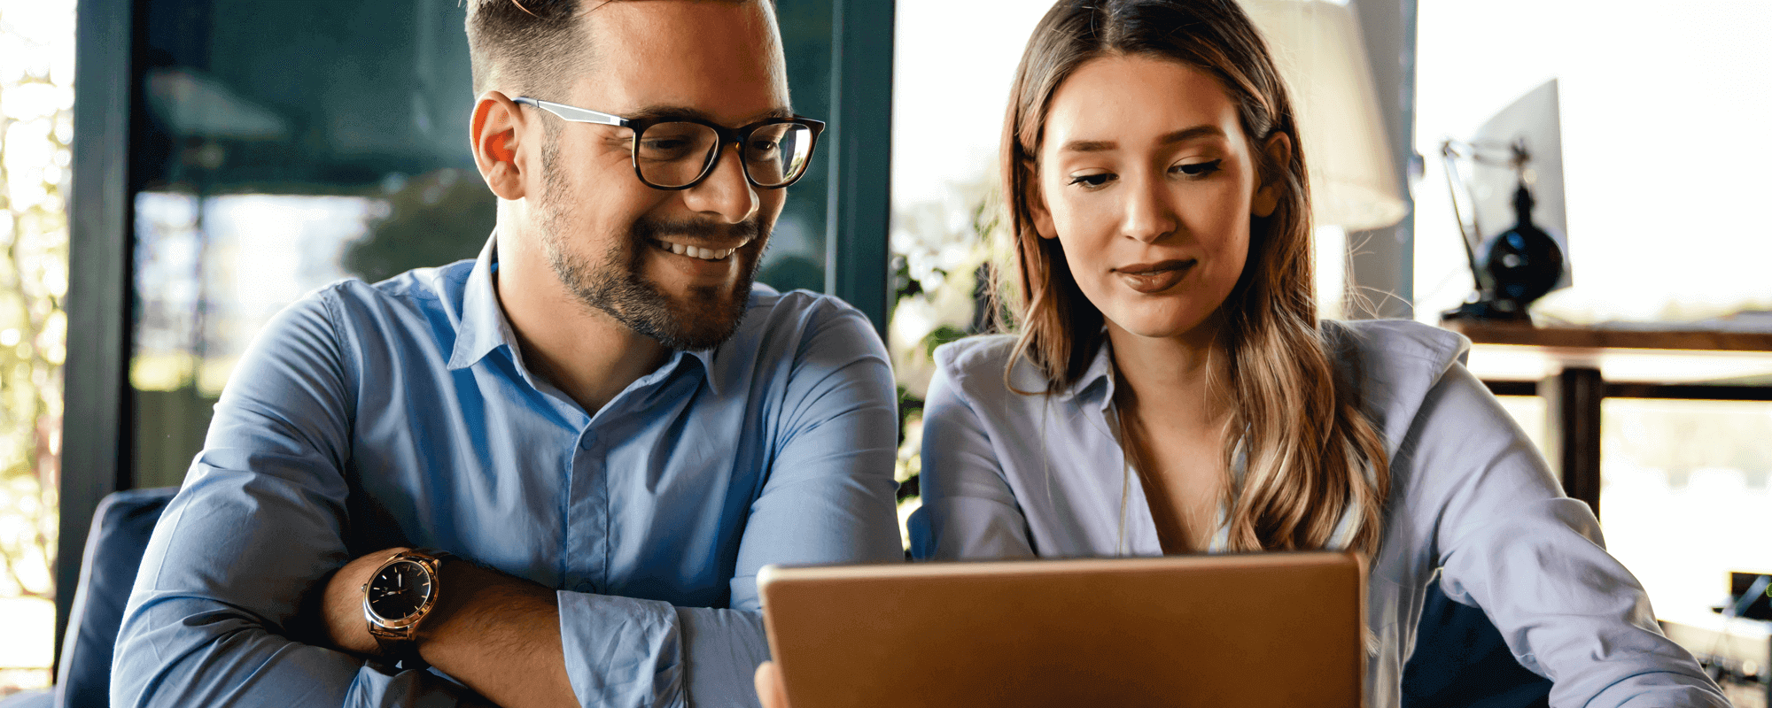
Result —
[[764, 566], [794, 708], [1359, 706], [1343, 552]]

